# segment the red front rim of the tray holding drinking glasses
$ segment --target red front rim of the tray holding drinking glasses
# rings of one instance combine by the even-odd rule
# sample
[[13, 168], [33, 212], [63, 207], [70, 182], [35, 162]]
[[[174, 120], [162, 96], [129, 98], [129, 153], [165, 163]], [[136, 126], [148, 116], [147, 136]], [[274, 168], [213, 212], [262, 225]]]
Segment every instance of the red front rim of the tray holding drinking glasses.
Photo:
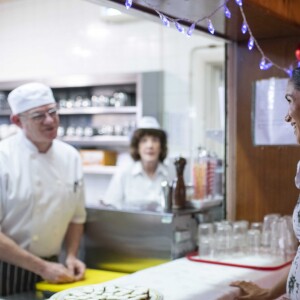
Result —
[[222, 266], [229, 266], [229, 267], [238, 267], [238, 268], [247, 268], [247, 269], [253, 269], [253, 270], [259, 270], [259, 271], [276, 271], [279, 269], [282, 269], [292, 263], [292, 259], [285, 262], [280, 262], [275, 265], [268, 265], [268, 266], [254, 266], [254, 265], [247, 265], [247, 264], [239, 264], [234, 262], [228, 262], [228, 261], [216, 261], [216, 260], [208, 260], [208, 259], [201, 259], [198, 256], [197, 252], [192, 252], [186, 255], [186, 258], [190, 261], [194, 262], [202, 262], [207, 264], [214, 264], [214, 265], [222, 265]]

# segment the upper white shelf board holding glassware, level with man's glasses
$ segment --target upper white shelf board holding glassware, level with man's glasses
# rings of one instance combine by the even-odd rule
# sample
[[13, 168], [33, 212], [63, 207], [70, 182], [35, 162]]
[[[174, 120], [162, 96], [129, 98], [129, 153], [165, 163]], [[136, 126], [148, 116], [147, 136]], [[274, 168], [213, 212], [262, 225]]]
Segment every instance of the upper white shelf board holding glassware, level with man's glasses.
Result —
[[136, 106], [122, 106], [122, 107], [74, 107], [74, 108], [60, 108], [60, 115], [94, 115], [94, 114], [135, 114], [137, 113]]

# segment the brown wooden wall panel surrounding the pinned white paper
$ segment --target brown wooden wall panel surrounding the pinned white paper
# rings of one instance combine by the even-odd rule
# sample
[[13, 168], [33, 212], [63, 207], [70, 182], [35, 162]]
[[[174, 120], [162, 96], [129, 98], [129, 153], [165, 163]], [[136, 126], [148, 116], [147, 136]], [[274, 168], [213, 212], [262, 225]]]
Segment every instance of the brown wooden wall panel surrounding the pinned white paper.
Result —
[[[266, 55], [278, 64], [288, 66], [295, 60], [294, 48], [298, 41], [298, 38], [273, 39], [260, 41], [260, 45]], [[236, 218], [260, 221], [267, 213], [291, 214], [298, 195], [294, 176], [300, 147], [255, 147], [251, 136], [253, 82], [287, 76], [275, 68], [261, 71], [258, 68], [260, 54], [250, 52], [243, 43], [238, 44], [236, 59]]]

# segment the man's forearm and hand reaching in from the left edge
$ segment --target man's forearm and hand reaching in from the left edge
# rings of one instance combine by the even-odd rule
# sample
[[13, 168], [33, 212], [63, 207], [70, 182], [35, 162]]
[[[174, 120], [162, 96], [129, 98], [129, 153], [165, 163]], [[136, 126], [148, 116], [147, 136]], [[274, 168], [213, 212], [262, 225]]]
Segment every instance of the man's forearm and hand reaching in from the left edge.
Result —
[[40, 275], [53, 283], [72, 282], [74, 277], [62, 265], [31, 254], [0, 232], [0, 260]]

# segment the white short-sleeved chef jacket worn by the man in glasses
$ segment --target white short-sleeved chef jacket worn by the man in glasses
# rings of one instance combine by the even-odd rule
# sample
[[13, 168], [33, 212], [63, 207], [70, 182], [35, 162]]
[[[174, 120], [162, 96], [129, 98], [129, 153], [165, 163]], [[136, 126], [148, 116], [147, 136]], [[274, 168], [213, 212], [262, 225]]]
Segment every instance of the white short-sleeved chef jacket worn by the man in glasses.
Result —
[[47, 153], [23, 132], [0, 142], [0, 231], [40, 257], [56, 255], [70, 222], [86, 218], [78, 152], [54, 140]]

